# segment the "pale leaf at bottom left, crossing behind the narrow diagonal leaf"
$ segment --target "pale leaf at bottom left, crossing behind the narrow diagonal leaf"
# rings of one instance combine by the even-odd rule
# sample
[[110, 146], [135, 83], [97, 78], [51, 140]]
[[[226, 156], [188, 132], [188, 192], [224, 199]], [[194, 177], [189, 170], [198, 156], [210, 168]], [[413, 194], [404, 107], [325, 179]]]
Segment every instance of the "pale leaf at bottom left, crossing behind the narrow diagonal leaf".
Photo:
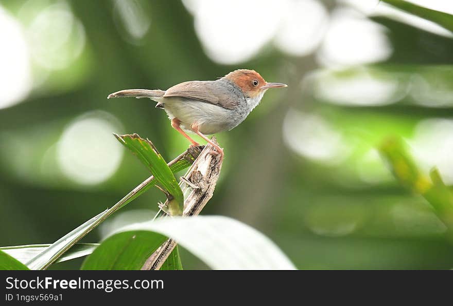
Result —
[[[68, 252], [66, 252], [62, 257], [60, 257], [56, 262], [67, 261], [74, 258], [89, 255], [93, 253], [93, 250], [98, 245], [99, 243], [76, 243], [73, 247], [71, 247], [71, 249]], [[0, 250], [25, 264], [33, 257], [46, 250], [46, 248], [48, 248], [49, 246], [50, 244], [14, 245], [14, 246], [2, 246], [0, 247]]]

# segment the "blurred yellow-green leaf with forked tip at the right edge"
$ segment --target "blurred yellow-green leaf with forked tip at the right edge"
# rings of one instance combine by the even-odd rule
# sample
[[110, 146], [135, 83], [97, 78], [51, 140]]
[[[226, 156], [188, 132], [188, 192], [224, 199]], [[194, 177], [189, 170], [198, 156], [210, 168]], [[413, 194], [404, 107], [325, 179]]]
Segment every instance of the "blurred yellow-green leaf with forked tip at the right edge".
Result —
[[430, 182], [415, 165], [400, 138], [385, 140], [379, 151], [399, 182], [422, 195], [431, 204], [435, 214], [448, 228], [449, 237], [453, 238], [453, 193], [442, 181], [439, 171], [435, 168], [431, 170]]

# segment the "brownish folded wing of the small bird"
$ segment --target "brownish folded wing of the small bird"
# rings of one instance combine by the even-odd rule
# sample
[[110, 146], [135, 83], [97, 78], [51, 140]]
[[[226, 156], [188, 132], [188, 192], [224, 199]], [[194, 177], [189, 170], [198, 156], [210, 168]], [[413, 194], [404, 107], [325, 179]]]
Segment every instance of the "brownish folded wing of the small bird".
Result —
[[168, 88], [163, 98], [182, 97], [233, 109], [237, 101], [216, 81], [189, 81]]

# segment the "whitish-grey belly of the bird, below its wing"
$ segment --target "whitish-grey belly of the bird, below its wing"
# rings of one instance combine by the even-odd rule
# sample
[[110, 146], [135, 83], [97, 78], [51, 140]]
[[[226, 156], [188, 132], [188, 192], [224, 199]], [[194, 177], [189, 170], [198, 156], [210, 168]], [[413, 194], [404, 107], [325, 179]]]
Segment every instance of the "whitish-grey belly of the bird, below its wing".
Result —
[[191, 131], [190, 125], [196, 123], [200, 132], [206, 135], [232, 129], [237, 125], [234, 112], [211, 103], [180, 98], [164, 98], [162, 101], [168, 118], [178, 118], [181, 127]]

